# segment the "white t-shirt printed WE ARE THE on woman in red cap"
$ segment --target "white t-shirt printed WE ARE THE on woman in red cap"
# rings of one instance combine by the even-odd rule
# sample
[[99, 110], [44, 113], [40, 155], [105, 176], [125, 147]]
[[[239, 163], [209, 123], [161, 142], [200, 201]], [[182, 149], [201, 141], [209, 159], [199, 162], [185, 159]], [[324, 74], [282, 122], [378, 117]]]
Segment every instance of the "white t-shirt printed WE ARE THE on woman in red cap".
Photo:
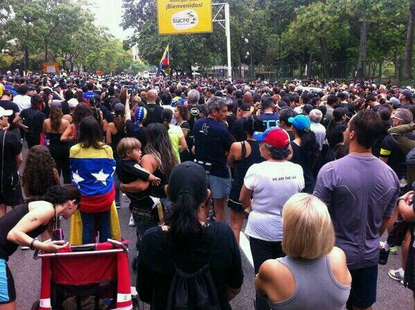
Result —
[[304, 188], [303, 169], [292, 162], [253, 164], [244, 184], [253, 196], [245, 234], [264, 241], [282, 241], [281, 211], [285, 202]]

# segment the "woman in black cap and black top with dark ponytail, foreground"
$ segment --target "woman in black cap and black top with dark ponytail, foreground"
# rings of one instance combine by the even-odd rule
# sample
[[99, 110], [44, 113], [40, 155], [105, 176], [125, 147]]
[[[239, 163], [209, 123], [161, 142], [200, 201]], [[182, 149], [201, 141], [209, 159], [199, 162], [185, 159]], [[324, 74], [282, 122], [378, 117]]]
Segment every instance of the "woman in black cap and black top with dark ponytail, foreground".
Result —
[[[139, 250], [136, 287], [140, 300], [154, 310], [170, 309], [175, 302], [175, 275], [186, 273], [193, 277], [185, 281], [191, 282], [196, 275], [209, 286], [201, 309], [230, 309], [229, 300], [238, 295], [243, 282], [240, 252], [226, 223], [206, 222], [204, 210], [209, 208], [210, 195], [206, 172], [193, 162], [179, 164], [170, 174], [166, 192], [173, 202], [166, 225], [148, 230]], [[192, 286], [188, 289], [197, 289], [200, 282], [188, 283]], [[189, 303], [200, 302], [193, 300], [190, 291], [182, 293], [191, 296]]]

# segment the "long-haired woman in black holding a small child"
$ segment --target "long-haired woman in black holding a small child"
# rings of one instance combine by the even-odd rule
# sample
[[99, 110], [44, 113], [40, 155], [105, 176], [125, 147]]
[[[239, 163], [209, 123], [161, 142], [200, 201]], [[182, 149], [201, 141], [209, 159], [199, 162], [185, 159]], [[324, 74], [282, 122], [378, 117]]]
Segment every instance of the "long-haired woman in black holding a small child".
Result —
[[[151, 123], [147, 126], [147, 146], [145, 146], [145, 155], [141, 159], [141, 166], [161, 179], [159, 186], [153, 186], [150, 182], [136, 180], [128, 184], [121, 184], [121, 189], [130, 193], [137, 193], [139, 199], [144, 200], [149, 196], [159, 198], [164, 207], [168, 209], [169, 201], [164, 191], [167, 180], [173, 167], [177, 164], [177, 156], [168, 137], [166, 126], [161, 123]], [[132, 216], [136, 225], [139, 238], [150, 227], [157, 226], [158, 218], [154, 218], [151, 206], [130, 205]]]

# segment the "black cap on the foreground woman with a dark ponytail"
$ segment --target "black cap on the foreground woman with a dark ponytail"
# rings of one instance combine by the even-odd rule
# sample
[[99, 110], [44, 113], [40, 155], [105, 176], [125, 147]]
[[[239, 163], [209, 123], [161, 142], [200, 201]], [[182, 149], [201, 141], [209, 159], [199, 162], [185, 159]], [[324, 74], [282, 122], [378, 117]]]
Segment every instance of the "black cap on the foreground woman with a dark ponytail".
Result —
[[195, 162], [182, 162], [175, 166], [168, 179], [168, 198], [173, 203], [182, 193], [188, 193], [197, 203], [206, 199], [206, 172], [202, 166]]

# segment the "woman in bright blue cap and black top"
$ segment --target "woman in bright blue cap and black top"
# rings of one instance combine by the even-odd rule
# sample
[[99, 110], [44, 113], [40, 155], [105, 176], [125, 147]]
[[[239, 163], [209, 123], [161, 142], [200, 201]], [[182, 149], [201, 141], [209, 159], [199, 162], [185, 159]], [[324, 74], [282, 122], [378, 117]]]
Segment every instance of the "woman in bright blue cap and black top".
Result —
[[312, 193], [315, 186], [313, 169], [319, 156], [319, 144], [315, 133], [310, 129], [310, 119], [307, 115], [297, 115], [288, 119], [292, 123], [295, 139], [291, 141], [291, 162], [303, 168], [305, 187], [303, 192]]

